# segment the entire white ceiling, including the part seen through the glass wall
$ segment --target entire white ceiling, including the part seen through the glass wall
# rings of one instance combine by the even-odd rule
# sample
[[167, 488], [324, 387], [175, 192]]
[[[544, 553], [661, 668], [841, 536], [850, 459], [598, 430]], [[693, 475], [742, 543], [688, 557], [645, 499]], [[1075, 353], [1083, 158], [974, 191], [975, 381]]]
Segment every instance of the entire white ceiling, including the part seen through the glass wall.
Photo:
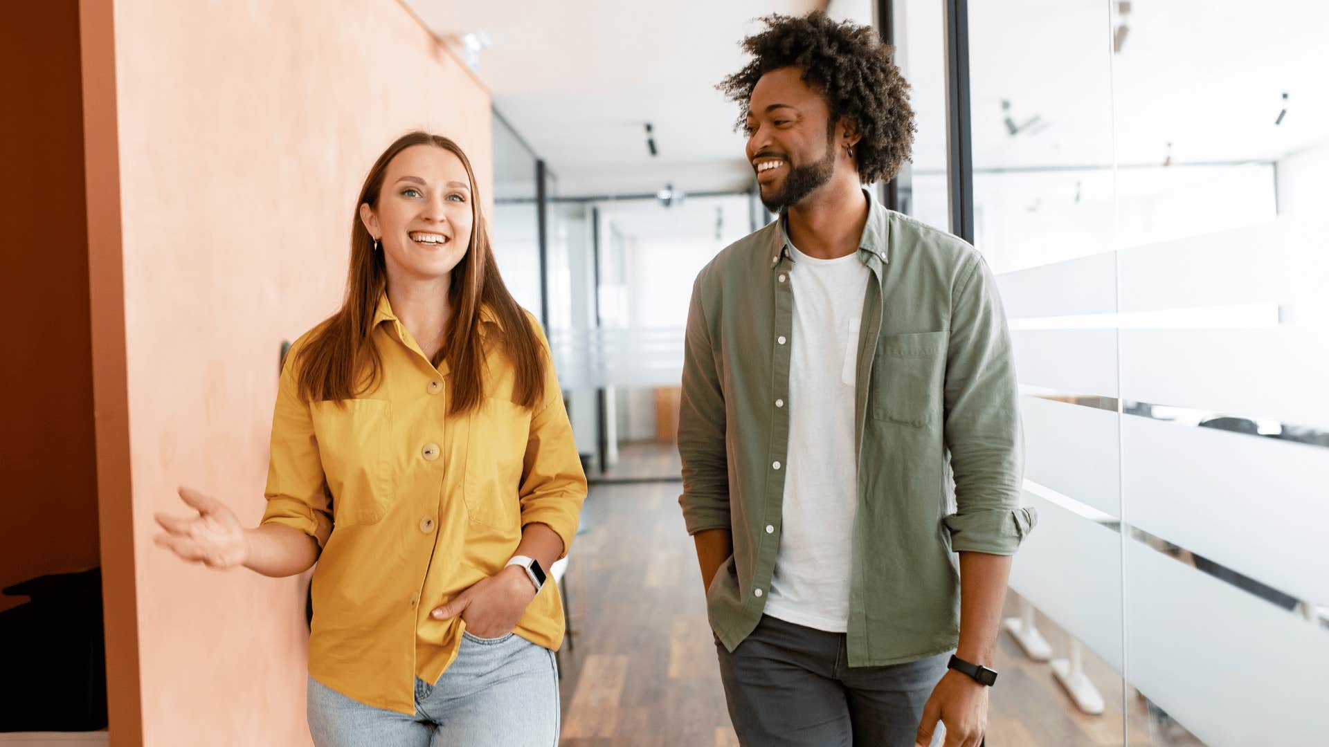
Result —
[[[817, 0], [672, 4], [408, 0], [440, 36], [485, 32], [480, 77], [565, 195], [746, 189], [735, 105], [714, 85], [744, 64], [756, 17]], [[897, 62], [913, 85], [917, 169], [945, 167], [941, 0], [896, 0]], [[969, 3], [974, 165], [993, 167], [1271, 161], [1329, 138], [1329, 3], [1134, 0]], [[869, 0], [831, 0], [861, 23]], [[1130, 27], [1111, 56], [1111, 32]], [[1275, 125], [1288, 90], [1288, 117]], [[1022, 122], [1011, 137], [1002, 100]], [[1115, 106], [1115, 112], [1114, 112]], [[1115, 117], [1115, 133], [1114, 133]], [[646, 152], [655, 125], [659, 157]]]

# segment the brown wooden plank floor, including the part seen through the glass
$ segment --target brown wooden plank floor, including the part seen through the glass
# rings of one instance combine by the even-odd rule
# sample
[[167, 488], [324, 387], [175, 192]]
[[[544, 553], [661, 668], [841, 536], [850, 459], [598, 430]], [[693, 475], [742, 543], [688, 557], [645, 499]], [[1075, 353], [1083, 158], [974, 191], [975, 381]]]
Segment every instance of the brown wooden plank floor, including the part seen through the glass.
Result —
[[[668, 451], [641, 445], [619, 475], [659, 476]], [[675, 452], [676, 453], [676, 452]], [[676, 461], [676, 456], [672, 457]], [[692, 540], [678, 508], [680, 482], [593, 486], [567, 570], [574, 649], [562, 659], [562, 744], [728, 746], [730, 726], [706, 621]], [[1017, 599], [1007, 595], [1007, 614]], [[1039, 617], [1057, 646], [1065, 634]], [[1107, 702], [1100, 716], [1079, 712], [1047, 663], [1029, 661], [1014, 641], [998, 642], [999, 686], [991, 691], [989, 747], [1123, 744], [1120, 677], [1086, 653], [1084, 667]], [[1147, 703], [1130, 695], [1130, 744], [1192, 747], [1201, 743], [1176, 724], [1151, 720]]]

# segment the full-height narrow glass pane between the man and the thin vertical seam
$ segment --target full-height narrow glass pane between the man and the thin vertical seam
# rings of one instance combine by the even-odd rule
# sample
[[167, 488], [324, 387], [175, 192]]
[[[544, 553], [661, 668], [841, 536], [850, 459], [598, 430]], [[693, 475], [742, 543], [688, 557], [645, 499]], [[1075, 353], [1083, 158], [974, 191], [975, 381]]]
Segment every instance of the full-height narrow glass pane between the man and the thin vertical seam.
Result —
[[[1106, 24], [1103, 4], [969, 4], [974, 246], [998, 275], [1115, 249]], [[942, 37], [933, 37], [940, 60]], [[1027, 275], [1007, 303], [1059, 318], [1090, 310], [1115, 318], [1112, 280], [1102, 276], [1112, 265], [1103, 267]], [[1062, 287], [1067, 280], [1092, 287]], [[1047, 332], [1037, 318], [1018, 322], [1017, 344], [1033, 360], [1046, 339], [1038, 335]], [[1118, 472], [1112, 347], [1115, 339], [1102, 334], [1075, 346], [1091, 354], [1087, 360], [1102, 360], [1102, 370], [1061, 366], [1063, 348], [1041, 351], [1047, 380], [1022, 381], [1022, 393], [1065, 403], [1046, 412], [1026, 405], [1026, 440], [1043, 451], [1027, 457], [1023, 501], [1037, 508], [1039, 525], [1015, 556], [1007, 609], [1022, 619], [1023, 605], [1031, 607], [1033, 635], [1047, 651], [1030, 655], [1015, 645], [1023, 635], [1002, 635], [998, 663], [1014, 677], [1007, 693], [993, 691], [991, 744], [1124, 744], [1128, 720], [1142, 728], [1148, 722], [1146, 704], [1126, 698], [1122, 679], [1128, 610], [1118, 490], [1083, 477], [1115, 480]], [[1066, 457], [1111, 464], [1076, 471]]]

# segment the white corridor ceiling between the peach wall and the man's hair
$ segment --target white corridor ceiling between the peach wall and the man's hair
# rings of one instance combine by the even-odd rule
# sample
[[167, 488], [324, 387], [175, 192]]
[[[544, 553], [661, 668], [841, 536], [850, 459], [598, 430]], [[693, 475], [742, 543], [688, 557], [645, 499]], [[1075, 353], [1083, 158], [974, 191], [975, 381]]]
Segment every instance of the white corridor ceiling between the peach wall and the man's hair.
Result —
[[[768, 13], [816, 0], [408, 0], [440, 36], [484, 32], [480, 78], [565, 195], [747, 189], [738, 109], [715, 90]], [[646, 149], [645, 124], [659, 156]]]

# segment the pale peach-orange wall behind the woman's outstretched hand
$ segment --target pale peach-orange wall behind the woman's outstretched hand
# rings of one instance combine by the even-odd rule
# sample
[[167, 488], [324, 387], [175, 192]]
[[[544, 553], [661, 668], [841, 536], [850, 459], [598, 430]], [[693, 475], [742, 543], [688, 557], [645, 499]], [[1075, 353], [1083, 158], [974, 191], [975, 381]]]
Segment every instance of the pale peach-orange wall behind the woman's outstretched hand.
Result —
[[152, 516], [185, 484], [258, 521], [278, 348], [340, 300], [364, 173], [424, 128], [492, 205], [489, 93], [393, 0], [113, 8], [142, 739], [308, 743], [304, 581], [186, 566]]

